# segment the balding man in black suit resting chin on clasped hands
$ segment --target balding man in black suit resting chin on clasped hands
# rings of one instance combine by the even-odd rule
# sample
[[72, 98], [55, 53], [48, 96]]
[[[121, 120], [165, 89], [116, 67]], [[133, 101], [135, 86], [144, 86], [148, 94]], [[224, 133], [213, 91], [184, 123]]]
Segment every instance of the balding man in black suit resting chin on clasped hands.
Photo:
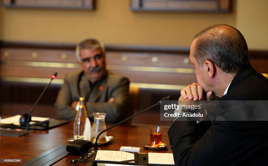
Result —
[[[191, 44], [197, 83], [179, 100], [268, 100], [268, 79], [249, 62], [243, 35], [225, 24], [203, 29]], [[208, 118], [208, 117], [206, 117]], [[174, 121], [168, 131], [175, 165], [267, 165], [267, 121]]]

